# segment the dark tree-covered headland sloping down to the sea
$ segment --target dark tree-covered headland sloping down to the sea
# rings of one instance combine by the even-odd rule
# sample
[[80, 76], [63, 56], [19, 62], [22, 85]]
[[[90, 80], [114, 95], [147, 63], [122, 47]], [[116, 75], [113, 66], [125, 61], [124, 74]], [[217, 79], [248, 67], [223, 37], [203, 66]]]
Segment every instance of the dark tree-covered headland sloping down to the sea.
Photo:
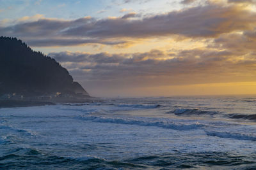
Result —
[[17, 38], [0, 37], [0, 94], [83, 94], [67, 69]]

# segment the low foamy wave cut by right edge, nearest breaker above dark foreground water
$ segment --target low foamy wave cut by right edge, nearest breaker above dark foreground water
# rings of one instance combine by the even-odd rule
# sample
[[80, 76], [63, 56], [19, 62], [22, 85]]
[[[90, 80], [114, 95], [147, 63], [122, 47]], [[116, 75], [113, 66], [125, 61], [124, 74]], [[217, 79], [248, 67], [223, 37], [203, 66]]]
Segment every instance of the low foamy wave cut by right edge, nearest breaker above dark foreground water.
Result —
[[238, 132], [226, 132], [226, 131], [205, 131], [208, 136], [217, 136], [219, 138], [231, 138], [237, 140], [250, 140], [256, 141], [256, 136], [253, 134], [244, 134]]

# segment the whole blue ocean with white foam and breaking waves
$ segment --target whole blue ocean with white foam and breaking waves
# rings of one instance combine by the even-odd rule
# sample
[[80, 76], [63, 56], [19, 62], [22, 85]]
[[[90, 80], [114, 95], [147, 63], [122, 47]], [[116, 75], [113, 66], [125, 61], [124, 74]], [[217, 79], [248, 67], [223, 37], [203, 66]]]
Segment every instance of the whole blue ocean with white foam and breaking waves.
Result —
[[0, 109], [0, 169], [256, 169], [256, 97]]

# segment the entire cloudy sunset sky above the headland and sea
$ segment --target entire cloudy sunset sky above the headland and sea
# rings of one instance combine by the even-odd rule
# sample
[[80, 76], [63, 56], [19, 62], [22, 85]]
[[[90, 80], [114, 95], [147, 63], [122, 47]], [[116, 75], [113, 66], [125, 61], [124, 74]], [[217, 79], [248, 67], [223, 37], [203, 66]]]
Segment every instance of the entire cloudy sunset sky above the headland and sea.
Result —
[[256, 94], [256, 0], [0, 0], [0, 36], [91, 96]]

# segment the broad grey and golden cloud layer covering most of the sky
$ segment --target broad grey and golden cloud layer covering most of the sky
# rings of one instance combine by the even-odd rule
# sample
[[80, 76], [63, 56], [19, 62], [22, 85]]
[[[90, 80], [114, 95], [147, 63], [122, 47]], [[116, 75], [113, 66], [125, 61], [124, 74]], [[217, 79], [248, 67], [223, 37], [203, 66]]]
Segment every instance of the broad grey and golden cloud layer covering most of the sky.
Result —
[[[122, 10], [122, 16], [106, 18], [23, 17], [2, 24], [0, 34], [40, 48], [80, 46], [48, 55], [89, 89], [255, 81], [255, 1], [180, 0], [178, 4], [184, 9], [157, 15]], [[110, 52], [100, 47], [84, 52], [88, 45], [108, 46]]]

